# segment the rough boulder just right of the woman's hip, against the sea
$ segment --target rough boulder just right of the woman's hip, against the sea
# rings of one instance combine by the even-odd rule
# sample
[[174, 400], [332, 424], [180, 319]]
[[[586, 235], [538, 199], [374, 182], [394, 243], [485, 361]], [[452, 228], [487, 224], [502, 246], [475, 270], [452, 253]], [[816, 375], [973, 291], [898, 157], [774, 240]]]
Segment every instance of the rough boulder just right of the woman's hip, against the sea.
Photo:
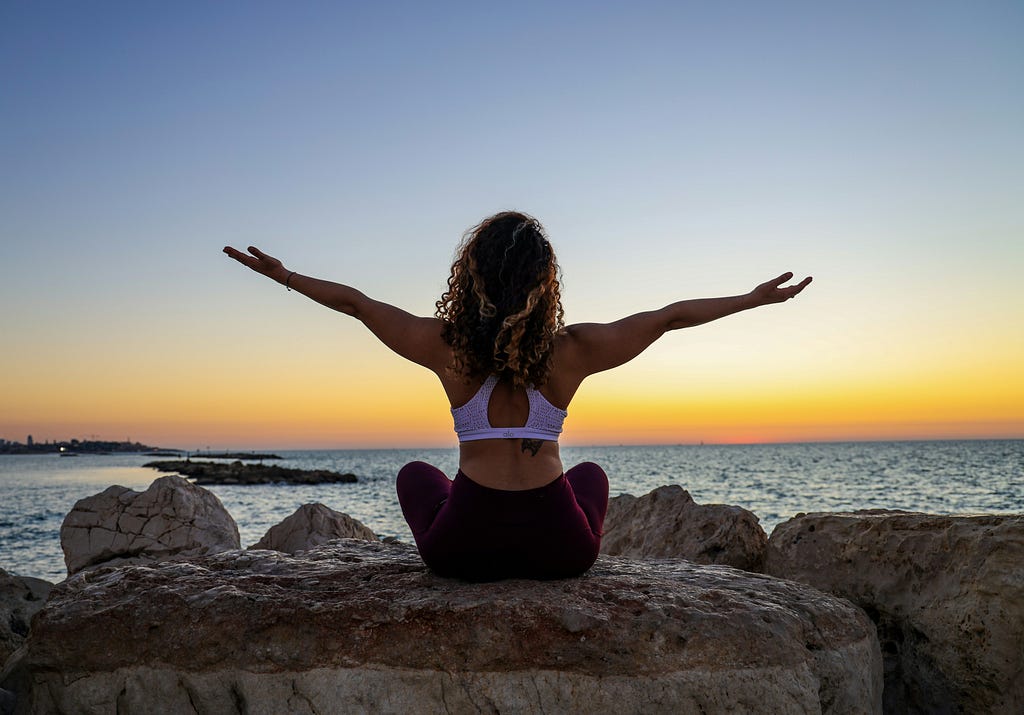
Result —
[[630, 558], [685, 558], [760, 572], [768, 537], [738, 506], [697, 504], [679, 486], [608, 501], [601, 553]]

